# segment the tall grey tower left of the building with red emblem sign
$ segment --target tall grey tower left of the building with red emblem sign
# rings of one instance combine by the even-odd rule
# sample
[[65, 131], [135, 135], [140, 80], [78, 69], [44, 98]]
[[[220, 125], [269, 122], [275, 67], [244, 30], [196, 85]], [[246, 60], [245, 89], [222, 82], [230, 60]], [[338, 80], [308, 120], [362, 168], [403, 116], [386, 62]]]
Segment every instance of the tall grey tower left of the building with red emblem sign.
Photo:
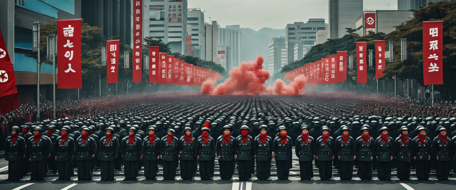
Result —
[[355, 28], [355, 18], [363, 13], [363, 0], [329, 0], [329, 36], [340, 38], [345, 28]]

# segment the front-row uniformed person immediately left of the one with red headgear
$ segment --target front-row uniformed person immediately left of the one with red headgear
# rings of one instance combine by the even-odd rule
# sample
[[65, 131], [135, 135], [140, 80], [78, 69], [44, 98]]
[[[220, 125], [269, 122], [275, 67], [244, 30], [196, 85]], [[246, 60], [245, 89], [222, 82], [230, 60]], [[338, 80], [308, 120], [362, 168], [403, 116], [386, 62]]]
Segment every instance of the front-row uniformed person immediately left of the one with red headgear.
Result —
[[184, 135], [179, 139], [179, 162], [181, 164], [181, 179], [192, 180], [195, 168], [195, 153], [197, 142], [192, 136], [192, 128], [185, 127]]

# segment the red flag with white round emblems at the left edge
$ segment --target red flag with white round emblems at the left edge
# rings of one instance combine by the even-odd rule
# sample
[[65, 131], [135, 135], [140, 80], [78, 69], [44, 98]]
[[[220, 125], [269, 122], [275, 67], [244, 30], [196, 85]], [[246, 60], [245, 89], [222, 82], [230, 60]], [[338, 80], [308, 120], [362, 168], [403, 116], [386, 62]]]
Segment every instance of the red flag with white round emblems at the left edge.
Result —
[[16, 77], [0, 30], [0, 114], [19, 108]]

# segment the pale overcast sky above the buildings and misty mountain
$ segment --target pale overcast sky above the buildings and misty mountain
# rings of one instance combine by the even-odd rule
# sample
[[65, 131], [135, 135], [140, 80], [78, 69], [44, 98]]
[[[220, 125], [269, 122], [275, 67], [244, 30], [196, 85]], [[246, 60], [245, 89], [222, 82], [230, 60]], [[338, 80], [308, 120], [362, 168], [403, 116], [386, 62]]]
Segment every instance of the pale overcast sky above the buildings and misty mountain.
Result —
[[[204, 21], [224, 27], [241, 25], [256, 31], [263, 27], [283, 29], [289, 23], [324, 18], [329, 0], [188, 0], [188, 8], [206, 10]], [[397, 0], [364, 0], [364, 9], [397, 9]]]

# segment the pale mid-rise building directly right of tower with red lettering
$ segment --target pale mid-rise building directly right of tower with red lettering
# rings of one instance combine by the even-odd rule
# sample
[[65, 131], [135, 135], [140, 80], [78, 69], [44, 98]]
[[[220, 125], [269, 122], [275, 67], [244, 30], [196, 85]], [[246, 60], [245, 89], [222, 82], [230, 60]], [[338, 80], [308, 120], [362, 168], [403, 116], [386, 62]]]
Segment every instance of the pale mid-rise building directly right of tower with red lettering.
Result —
[[187, 33], [190, 46], [187, 46], [187, 55], [206, 59], [206, 39], [204, 37], [204, 13], [200, 8], [188, 9]]

